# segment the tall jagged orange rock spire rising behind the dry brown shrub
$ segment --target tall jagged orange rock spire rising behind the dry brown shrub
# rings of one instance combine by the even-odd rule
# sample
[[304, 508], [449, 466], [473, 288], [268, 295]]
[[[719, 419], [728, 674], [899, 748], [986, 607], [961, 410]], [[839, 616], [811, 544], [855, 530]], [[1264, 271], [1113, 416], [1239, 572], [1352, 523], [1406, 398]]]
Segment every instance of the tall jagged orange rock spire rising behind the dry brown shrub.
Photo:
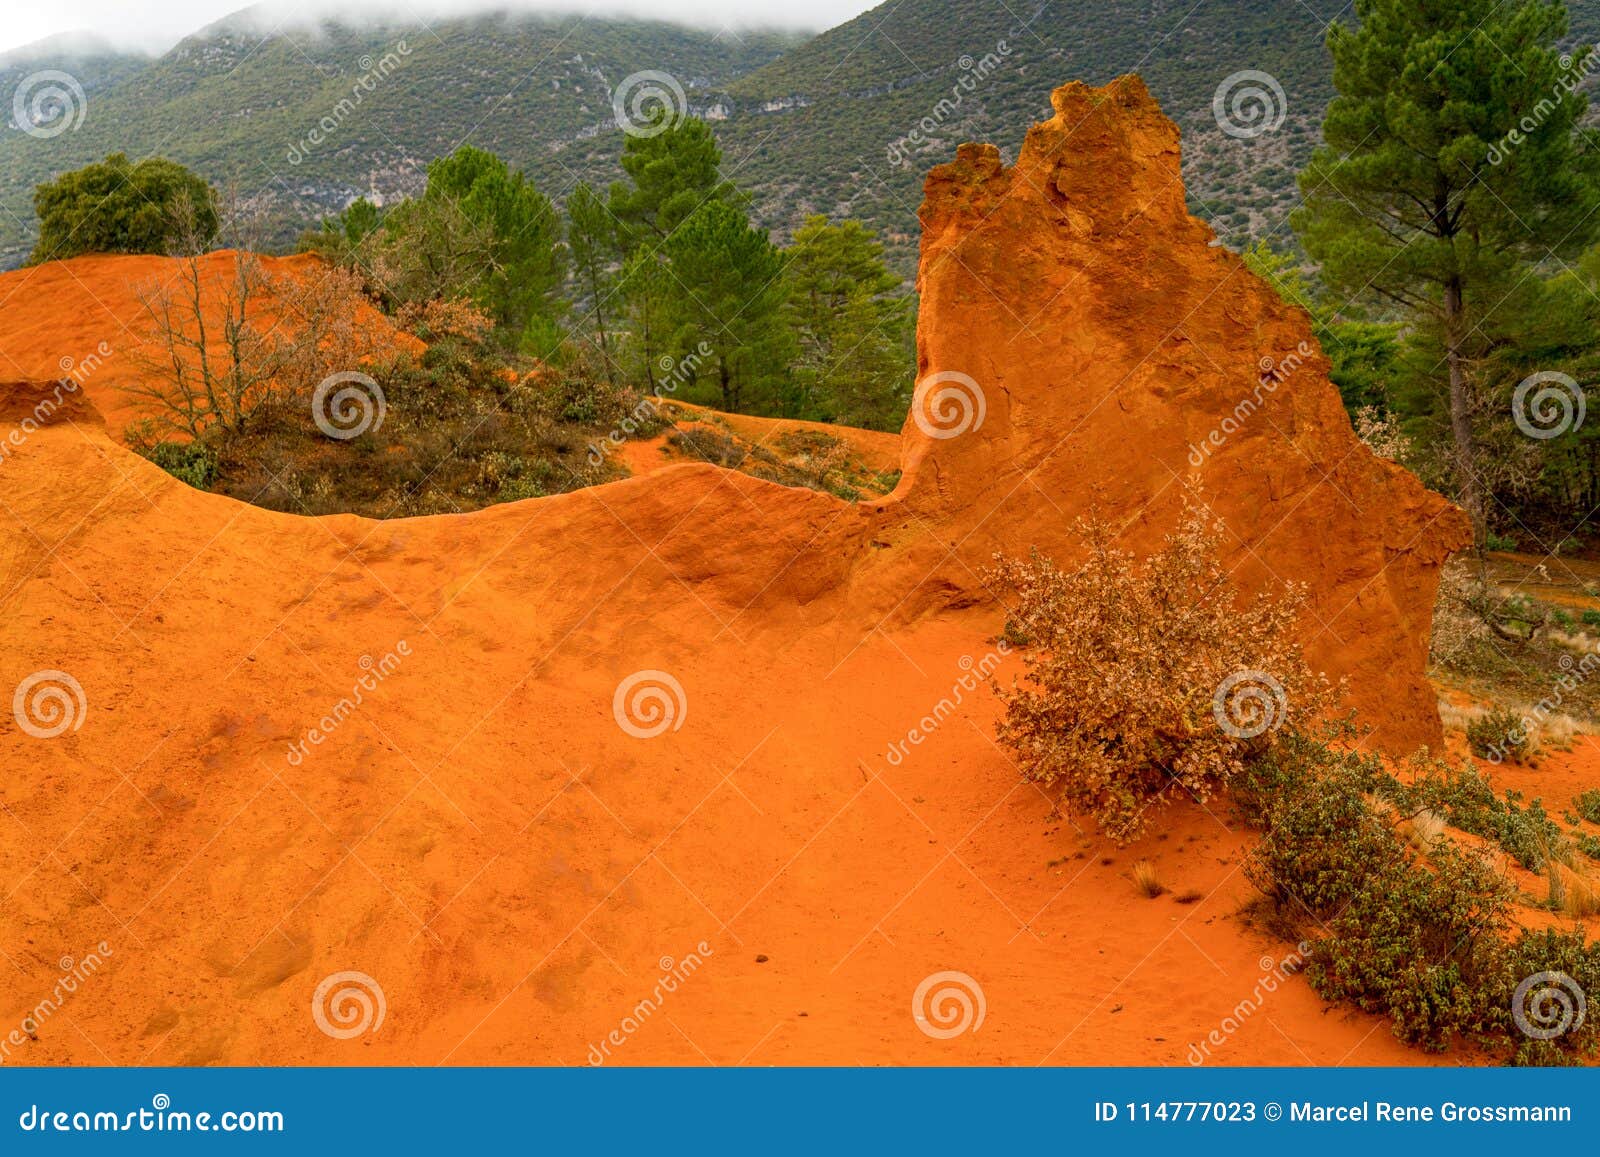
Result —
[[1189, 216], [1144, 83], [1053, 102], [1016, 165], [968, 144], [928, 178], [899, 496], [963, 555], [1061, 560], [1077, 515], [1149, 550], [1203, 502], [1246, 589], [1307, 586], [1307, 651], [1378, 739], [1437, 746], [1422, 669], [1464, 515], [1355, 437], [1306, 315]]

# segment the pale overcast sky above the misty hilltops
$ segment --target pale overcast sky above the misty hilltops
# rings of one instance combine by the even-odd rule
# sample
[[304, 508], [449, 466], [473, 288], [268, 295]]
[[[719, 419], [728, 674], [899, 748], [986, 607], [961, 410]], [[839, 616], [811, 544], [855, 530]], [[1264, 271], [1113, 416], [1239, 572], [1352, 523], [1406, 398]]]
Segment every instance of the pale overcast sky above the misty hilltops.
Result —
[[[722, 27], [789, 27], [821, 30], [864, 13], [878, 0], [270, 0], [272, 18], [309, 19], [382, 13], [397, 19], [426, 21], [464, 11], [582, 11], [630, 13], [683, 24]], [[0, 51], [32, 43], [56, 32], [90, 30], [128, 48], [165, 51], [181, 37], [214, 19], [248, 6], [248, 0], [70, 0], [5, 3], [0, 16]]]

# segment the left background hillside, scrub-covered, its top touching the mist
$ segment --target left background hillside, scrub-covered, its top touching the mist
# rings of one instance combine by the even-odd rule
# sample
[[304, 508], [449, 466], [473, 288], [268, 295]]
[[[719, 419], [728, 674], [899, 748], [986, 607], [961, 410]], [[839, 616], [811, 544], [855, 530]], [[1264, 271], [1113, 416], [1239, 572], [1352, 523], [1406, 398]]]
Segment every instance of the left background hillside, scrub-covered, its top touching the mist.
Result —
[[[627, 75], [669, 72], [694, 104], [795, 43], [578, 16], [328, 24], [317, 35], [262, 35], [254, 21], [230, 18], [131, 74], [85, 83], [86, 115], [74, 131], [0, 133], [0, 264], [18, 264], [30, 246], [37, 182], [115, 150], [163, 154], [235, 184], [270, 211], [278, 242], [358, 194], [419, 190], [427, 162], [469, 139], [560, 197], [579, 176], [613, 176], [622, 136], [611, 90]], [[75, 64], [35, 54], [37, 67]], [[333, 128], [315, 142], [323, 125]], [[586, 138], [608, 147], [568, 160], [568, 146]]]

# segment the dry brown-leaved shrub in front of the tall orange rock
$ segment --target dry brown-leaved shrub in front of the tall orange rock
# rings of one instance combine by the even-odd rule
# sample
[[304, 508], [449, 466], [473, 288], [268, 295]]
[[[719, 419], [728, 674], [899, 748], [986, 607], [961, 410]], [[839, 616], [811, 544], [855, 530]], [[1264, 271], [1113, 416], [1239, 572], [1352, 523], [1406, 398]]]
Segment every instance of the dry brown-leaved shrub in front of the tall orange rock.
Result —
[[1142, 562], [1112, 546], [1107, 523], [1078, 530], [1077, 571], [1037, 552], [997, 555], [989, 571], [1011, 595], [1006, 637], [1030, 645], [1024, 683], [998, 688], [1000, 738], [1027, 779], [1128, 842], [1168, 792], [1210, 799], [1336, 695], [1291, 637], [1304, 592], [1242, 600], [1198, 509]]

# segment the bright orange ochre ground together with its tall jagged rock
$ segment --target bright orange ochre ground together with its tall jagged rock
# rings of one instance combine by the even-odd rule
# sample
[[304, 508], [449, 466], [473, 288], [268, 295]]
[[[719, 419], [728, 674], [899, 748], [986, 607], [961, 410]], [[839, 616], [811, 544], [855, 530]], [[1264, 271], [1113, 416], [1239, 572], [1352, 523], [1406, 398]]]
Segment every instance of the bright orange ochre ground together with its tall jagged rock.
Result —
[[[1422, 648], [1459, 514], [1355, 440], [1314, 346], [1189, 464], [1306, 320], [1187, 218], [1142, 85], [1054, 99], [1014, 170], [963, 147], [928, 181], [922, 371], [971, 376], [986, 416], [930, 437], [950, 400], [925, 397], [886, 499], [683, 464], [302, 518], [128, 453], [93, 384], [37, 429], [50, 387], [0, 389], [29, 430], [0, 464], [0, 682], [83, 691], [56, 738], [0, 715], [0, 1040], [99, 959], [5, 1059], [1184, 1064], [1213, 1031], [1221, 1064], [1427, 1059], [1272, 979], [1291, 947], [1237, 915], [1226, 802], [1126, 850], [1050, 824], [962, 687], [1021, 667], [994, 549], [1069, 558], [1093, 504], [1149, 546], [1197, 478], [1246, 587], [1310, 584], [1310, 653], [1381, 739], [1438, 738]], [[109, 298], [99, 261], [69, 277]], [[19, 378], [118, 325], [59, 272], [5, 285]], [[635, 672], [682, 687], [656, 738], [614, 714]], [[357, 1008], [317, 994], [350, 971], [384, 1016], [336, 1039], [318, 1016]], [[914, 994], [946, 971], [984, 1016], [939, 1039]]]

